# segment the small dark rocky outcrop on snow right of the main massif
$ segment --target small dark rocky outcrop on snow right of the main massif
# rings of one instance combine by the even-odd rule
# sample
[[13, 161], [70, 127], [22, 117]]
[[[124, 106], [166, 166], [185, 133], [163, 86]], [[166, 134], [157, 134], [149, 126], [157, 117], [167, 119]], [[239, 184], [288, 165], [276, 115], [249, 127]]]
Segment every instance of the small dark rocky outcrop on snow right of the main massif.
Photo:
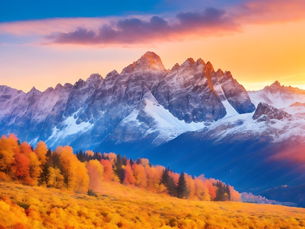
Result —
[[269, 121], [270, 119], [282, 120], [284, 118], [291, 118], [292, 115], [285, 111], [281, 111], [267, 103], [260, 102], [254, 112], [252, 118], [257, 121]]

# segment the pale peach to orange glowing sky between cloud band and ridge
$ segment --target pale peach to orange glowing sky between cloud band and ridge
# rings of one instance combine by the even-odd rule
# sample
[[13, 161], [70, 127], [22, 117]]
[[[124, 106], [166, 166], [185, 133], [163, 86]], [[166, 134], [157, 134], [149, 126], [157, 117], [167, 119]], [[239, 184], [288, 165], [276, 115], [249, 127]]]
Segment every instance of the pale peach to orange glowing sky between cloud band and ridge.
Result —
[[114, 69], [120, 73], [144, 53], [152, 51], [160, 56], [166, 69], [183, 63], [188, 57], [210, 61], [215, 70], [230, 71], [246, 90], [263, 89], [276, 80], [285, 86], [305, 89], [305, 32], [300, 30], [304, 23], [305, 20], [249, 24], [243, 31], [229, 36], [184, 38], [175, 42], [165, 39], [126, 48], [16, 46], [1, 62], [0, 84], [24, 92], [33, 86], [44, 91], [57, 83], [86, 80], [93, 73], [102, 77]]

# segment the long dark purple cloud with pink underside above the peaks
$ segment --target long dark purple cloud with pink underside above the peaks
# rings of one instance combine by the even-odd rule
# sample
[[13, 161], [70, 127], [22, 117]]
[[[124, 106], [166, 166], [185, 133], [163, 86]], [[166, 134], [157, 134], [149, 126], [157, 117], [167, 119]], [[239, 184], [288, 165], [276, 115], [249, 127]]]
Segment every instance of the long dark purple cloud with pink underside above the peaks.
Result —
[[102, 25], [97, 32], [79, 27], [73, 32], [58, 33], [47, 39], [52, 43], [134, 44], [168, 38], [180, 39], [192, 33], [197, 36], [213, 36], [238, 28], [224, 10], [216, 8], [179, 13], [173, 21], [175, 22], [170, 23], [159, 16], [153, 16], [150, 20], [121, 19], [112, 26]]

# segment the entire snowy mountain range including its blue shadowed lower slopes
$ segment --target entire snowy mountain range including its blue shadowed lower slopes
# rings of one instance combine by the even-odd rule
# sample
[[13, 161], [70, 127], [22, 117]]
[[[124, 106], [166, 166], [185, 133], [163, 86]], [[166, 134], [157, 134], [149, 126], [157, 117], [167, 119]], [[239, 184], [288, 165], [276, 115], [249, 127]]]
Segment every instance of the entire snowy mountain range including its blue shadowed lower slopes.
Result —
[[246, 91], [188, 58], [171, 70], [145, 53], [119, 74], [28, 93], [0, 86], [0, 133], [49, 147], [147, 157], [258, 193], [305, 183], [305, 91]]

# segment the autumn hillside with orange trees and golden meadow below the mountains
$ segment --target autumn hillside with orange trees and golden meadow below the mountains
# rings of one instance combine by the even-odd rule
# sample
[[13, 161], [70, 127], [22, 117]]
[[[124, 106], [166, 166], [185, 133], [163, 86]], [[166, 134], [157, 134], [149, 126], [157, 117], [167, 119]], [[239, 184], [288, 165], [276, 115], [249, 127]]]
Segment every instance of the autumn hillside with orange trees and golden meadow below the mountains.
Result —
[[0, 139], [0, 182], [0, 228], [305, 227], [303, 209], [266, 205], [273, 213], [259, 216], [259, 205], [237, 203], [232, 186], [204, 175], [70, 146], [53, 152], [14, 134]]

